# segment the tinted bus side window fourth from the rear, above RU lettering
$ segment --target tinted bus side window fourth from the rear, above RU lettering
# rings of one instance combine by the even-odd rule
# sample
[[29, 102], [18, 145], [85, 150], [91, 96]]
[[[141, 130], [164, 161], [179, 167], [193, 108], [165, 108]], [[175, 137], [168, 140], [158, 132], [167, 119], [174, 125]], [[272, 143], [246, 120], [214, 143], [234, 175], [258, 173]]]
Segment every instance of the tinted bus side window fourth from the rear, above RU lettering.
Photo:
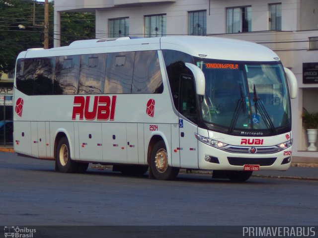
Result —
[[79, 94], [104, 92], [106, 56], [106, 54], [92, 54], [80, 57]]

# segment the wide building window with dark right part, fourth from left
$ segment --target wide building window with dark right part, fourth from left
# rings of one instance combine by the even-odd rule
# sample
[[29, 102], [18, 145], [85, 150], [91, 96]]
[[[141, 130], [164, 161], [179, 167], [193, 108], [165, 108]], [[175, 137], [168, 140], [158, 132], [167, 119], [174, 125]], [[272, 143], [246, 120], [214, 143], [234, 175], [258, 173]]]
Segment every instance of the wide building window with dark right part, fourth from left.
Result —
[[249, 32], [251, 29], [251, 6], [227, 8], [227, 33]]

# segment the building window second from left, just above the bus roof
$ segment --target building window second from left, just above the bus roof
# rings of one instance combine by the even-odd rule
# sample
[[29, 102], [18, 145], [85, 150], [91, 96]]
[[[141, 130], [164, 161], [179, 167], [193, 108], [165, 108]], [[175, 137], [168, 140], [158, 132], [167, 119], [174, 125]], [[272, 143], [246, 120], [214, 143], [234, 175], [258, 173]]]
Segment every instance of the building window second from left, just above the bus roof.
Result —
[[145, 37], [166, 35], [166, 15], [145, 16]]

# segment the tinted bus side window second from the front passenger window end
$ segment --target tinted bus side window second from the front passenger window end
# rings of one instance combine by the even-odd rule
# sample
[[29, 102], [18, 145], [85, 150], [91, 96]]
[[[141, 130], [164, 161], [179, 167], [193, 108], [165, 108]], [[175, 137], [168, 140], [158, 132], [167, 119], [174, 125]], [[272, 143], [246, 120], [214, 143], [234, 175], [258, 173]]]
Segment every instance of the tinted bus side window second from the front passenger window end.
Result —
[[131, 93], [135, 52], [108, 53], [104, 93]]

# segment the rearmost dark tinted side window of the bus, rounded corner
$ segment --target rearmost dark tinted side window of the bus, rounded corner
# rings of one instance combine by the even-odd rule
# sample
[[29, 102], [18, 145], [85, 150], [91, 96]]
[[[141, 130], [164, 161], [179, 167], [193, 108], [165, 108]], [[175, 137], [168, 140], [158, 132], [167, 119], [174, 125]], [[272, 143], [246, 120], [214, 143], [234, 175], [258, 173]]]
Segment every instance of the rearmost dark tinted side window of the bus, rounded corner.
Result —
[[16, 87], [26, 95], [34, 93], [34, 59], [20, 59], [16, 66]]

